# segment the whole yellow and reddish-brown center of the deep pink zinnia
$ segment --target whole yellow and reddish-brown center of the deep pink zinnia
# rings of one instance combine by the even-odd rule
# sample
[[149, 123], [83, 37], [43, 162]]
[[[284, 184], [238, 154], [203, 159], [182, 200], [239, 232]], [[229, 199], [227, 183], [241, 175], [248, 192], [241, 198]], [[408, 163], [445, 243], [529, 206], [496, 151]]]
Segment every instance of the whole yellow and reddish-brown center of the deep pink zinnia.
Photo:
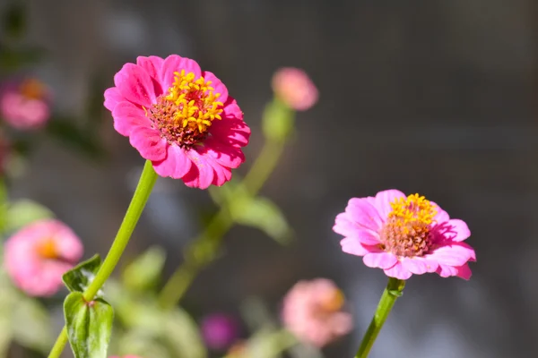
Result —
[[221, 120], [220, 93], [214, 93], [212, 81], [195, 80], [195, 73], [174, 72], [174, 83], [146, 115], [170, 143], [190, 148], [203, 141], [215, 119]]

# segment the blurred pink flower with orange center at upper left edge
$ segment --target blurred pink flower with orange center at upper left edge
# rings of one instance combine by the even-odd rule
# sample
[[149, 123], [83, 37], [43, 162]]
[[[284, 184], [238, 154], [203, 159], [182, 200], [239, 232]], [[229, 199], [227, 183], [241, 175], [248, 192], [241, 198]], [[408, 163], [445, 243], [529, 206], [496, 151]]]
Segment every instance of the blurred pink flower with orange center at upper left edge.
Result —
[[6, 82], [0, 93], [0, 112], [13, 128], [40, 128], [50, 118], [49, 90], [33, 78]]

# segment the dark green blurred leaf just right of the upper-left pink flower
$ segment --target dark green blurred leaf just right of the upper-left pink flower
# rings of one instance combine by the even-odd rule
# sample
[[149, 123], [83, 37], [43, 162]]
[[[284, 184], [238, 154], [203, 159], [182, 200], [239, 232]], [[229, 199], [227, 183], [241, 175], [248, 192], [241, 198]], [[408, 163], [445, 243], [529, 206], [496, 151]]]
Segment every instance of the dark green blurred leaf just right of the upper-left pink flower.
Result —
[[105, 154], [97, 137], [80, 129], [75, 124], [74, 118], [52, 118], [48, 122], [47, 132], [66, 146], [80, 151], [89, 158], [100, 159]]

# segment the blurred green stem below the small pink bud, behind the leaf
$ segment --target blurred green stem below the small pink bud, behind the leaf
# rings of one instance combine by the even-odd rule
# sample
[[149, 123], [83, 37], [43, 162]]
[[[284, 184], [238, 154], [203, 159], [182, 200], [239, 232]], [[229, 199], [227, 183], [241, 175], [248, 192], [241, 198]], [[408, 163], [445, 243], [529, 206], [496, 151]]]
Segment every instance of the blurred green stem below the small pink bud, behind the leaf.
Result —
[[[278, 163], [283, 148], [283, 141], [265, 141], [264, 148], [241, 183], [249, 195], [255, 196], [262, 188]], [[198, 272], [213, 260], [221, 246], [222, 236], [232, 226], [233, 218], [230, 216], [230, 209], [228, 204], [224, 204], [204, 232], [187, 247], [185, 261], [169, 277], [159, 294], [161, 307], [171, 309], [181, 301]]]

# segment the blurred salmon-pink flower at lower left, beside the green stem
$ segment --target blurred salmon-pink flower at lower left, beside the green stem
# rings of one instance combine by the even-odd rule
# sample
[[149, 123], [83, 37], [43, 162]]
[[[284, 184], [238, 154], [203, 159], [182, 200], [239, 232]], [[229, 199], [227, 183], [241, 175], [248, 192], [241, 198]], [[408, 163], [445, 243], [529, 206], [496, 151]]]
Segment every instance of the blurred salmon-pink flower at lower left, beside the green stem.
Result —
[[16, 286], [32, 296], [56, 294], [62, 276], [82, 257], [82, 243], [57, 220], [41, 220], [13, 234], [4, 247], [4, 264]]

